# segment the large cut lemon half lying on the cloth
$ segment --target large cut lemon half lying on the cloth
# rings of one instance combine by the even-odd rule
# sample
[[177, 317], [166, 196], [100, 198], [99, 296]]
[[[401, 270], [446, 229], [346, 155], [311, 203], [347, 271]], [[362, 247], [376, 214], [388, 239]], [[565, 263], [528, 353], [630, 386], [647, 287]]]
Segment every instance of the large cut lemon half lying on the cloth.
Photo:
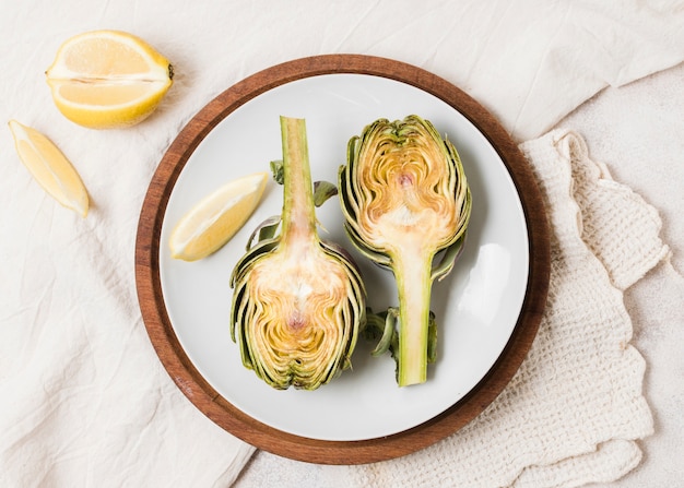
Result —
[[174, 71], [141, 38], [93, 31], [66, 40], [46, 76], [64, 117], [92, 129], [115, 129], [149, 117], [172, 86]]

